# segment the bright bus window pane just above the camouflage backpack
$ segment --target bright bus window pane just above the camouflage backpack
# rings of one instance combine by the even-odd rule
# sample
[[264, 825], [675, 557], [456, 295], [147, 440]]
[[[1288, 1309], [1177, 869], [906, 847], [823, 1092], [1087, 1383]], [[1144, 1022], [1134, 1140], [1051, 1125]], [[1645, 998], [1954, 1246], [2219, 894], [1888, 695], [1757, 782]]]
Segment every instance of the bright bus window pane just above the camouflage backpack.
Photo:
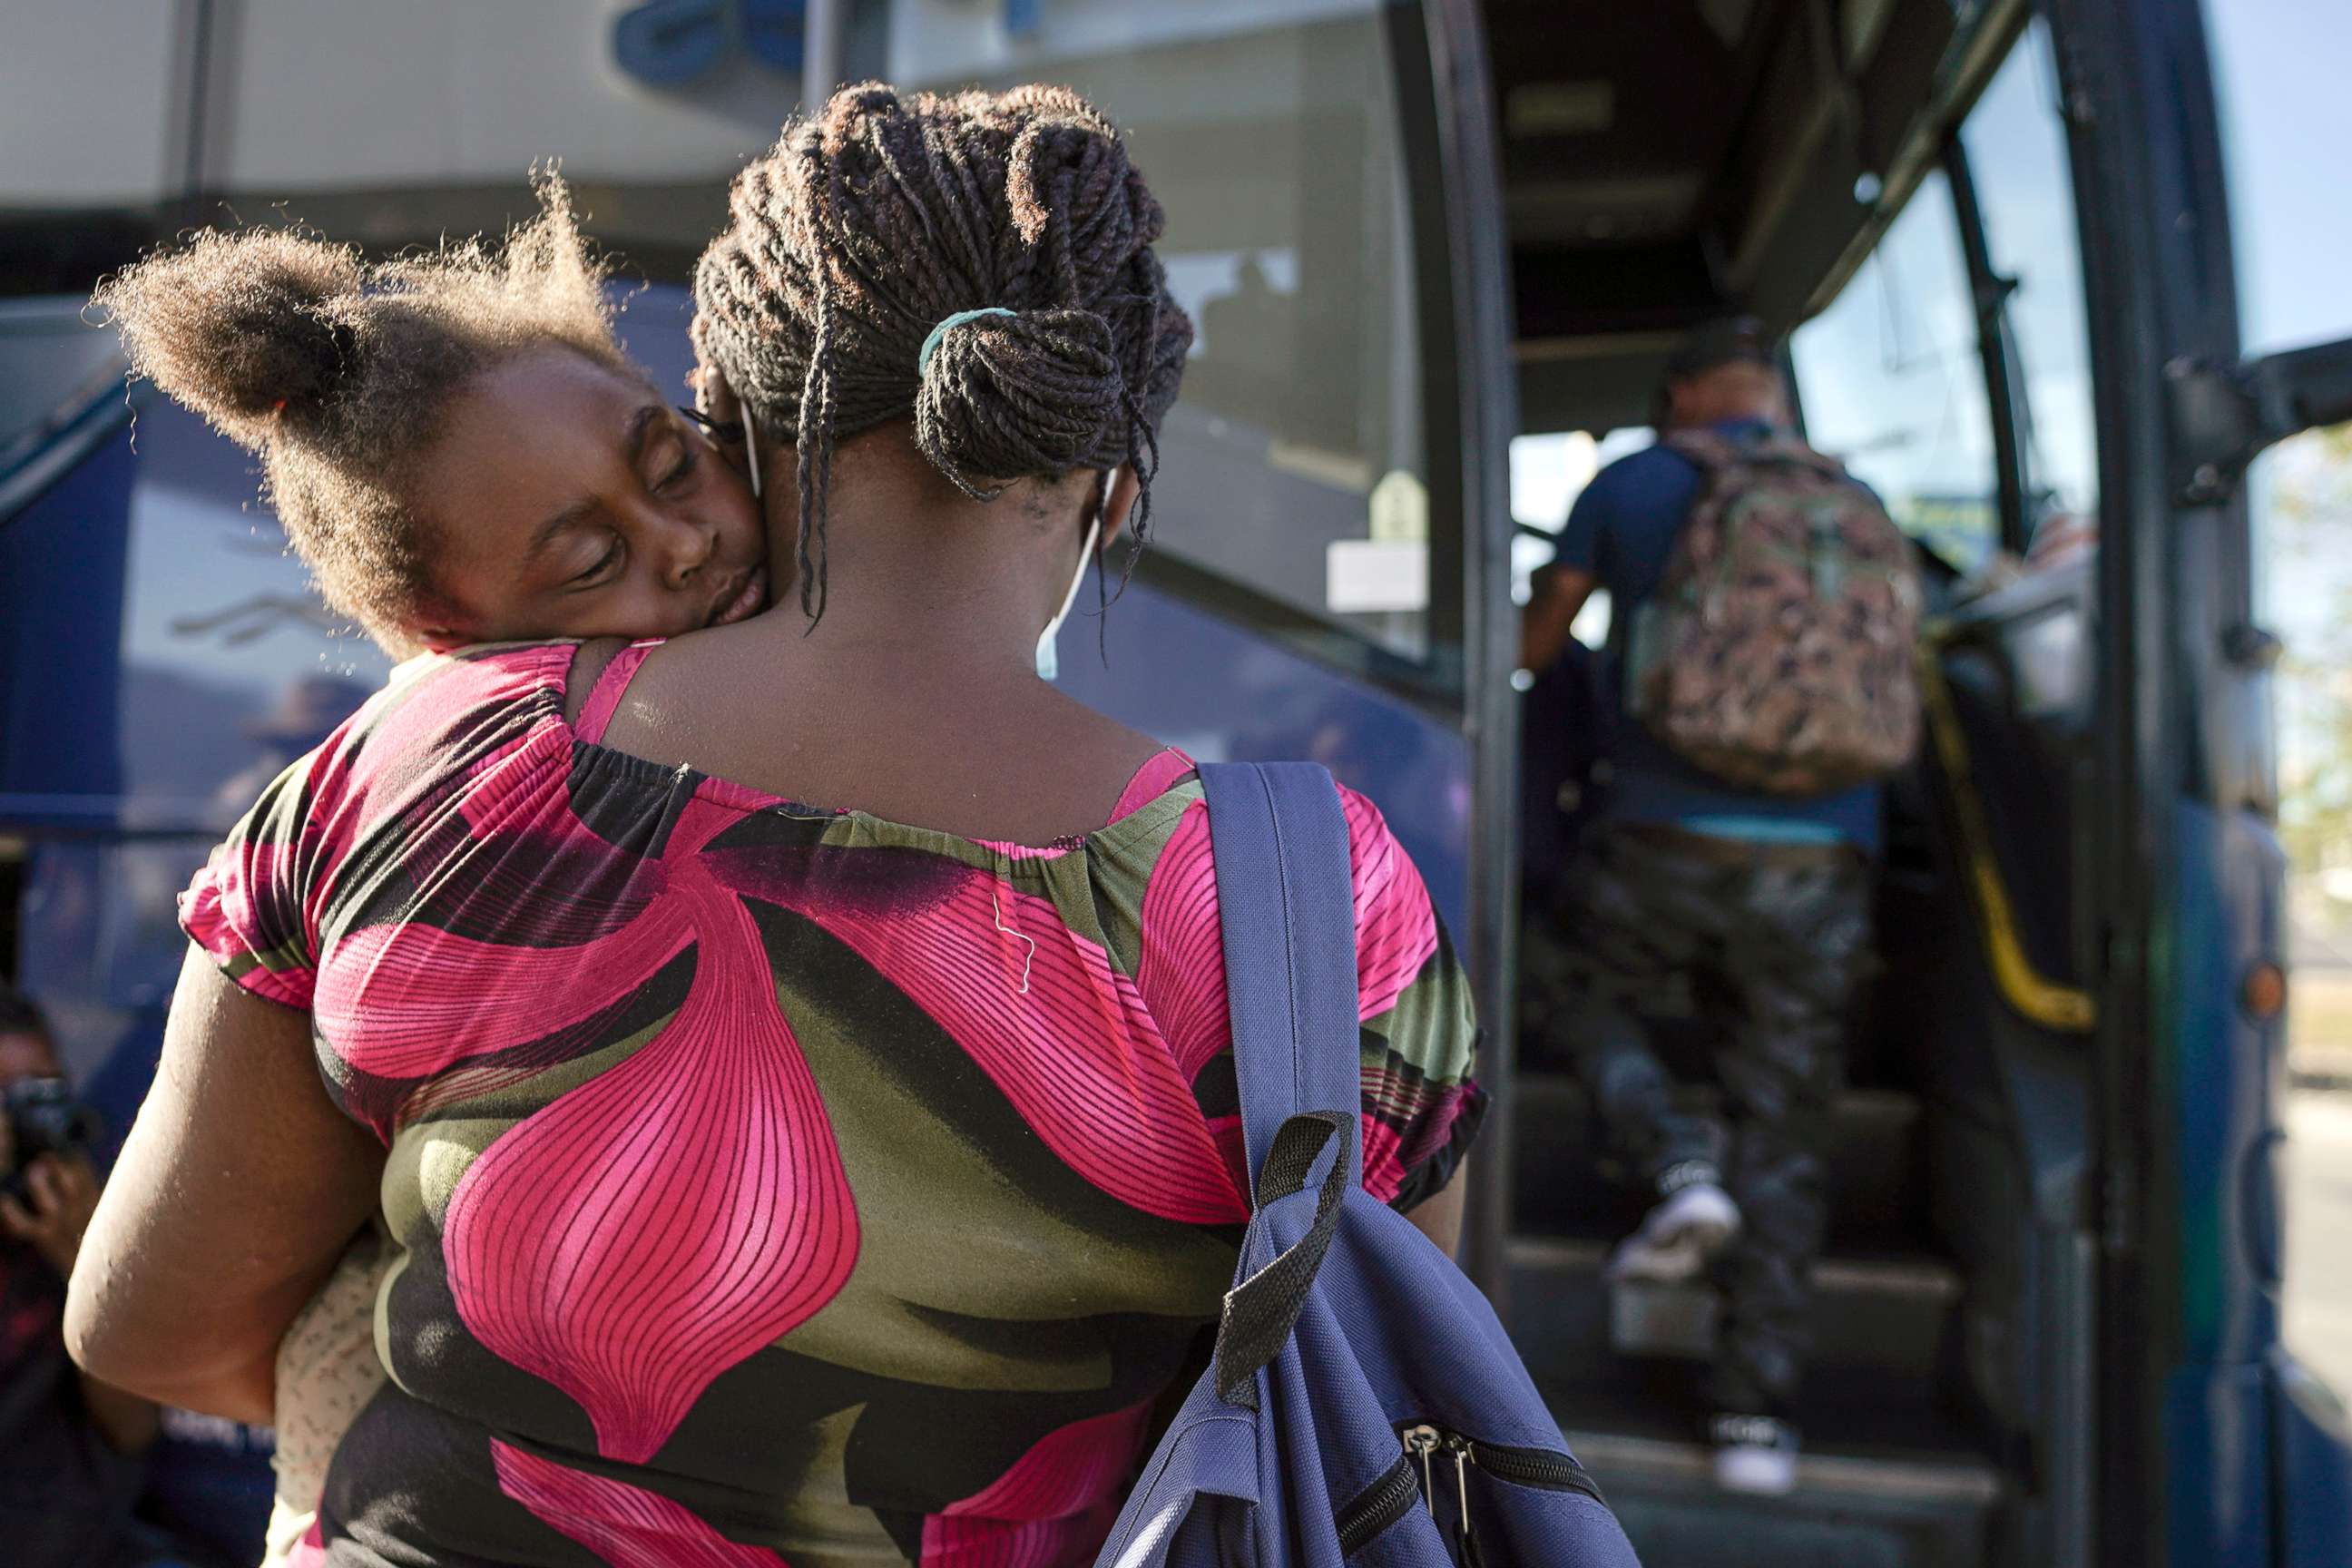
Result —
[[1992, 411], [1940, 169], [1828, 310], [1790, 339], [1806, 437], [1959, 571], [1999, 543]]

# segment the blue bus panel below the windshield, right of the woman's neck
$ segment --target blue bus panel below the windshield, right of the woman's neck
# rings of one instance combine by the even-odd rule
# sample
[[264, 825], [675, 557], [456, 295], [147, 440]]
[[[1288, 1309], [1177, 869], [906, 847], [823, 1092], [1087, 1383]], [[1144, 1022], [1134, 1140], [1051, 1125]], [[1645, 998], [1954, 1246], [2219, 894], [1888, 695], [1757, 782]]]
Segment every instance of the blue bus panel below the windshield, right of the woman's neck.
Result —
[[1461, 731], [1143, 583], [1101, 623], [1084, 602], [1061, 632], [1063, 691], [1200, 762], [1322, 762], [1381, 809], [1461, 940], [1470, 867]]

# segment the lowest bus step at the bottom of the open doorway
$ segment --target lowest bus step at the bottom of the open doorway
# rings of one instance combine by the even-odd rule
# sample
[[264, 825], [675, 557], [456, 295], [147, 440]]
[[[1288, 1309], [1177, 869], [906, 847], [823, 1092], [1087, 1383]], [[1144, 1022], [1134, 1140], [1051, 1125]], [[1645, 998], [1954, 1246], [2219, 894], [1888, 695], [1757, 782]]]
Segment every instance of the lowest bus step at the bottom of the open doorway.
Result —
[[[1569, 1427], [1566, 1418], [1562, 1420]], [[1715, 1486], [1705, 1443], [1569, 1427], [1569, 1448], [1625, 1523], [1642, 1568], [1987, 1568], [2002, 1479], [1973, 1455], [1835, 1450], [1797, 1490]]]

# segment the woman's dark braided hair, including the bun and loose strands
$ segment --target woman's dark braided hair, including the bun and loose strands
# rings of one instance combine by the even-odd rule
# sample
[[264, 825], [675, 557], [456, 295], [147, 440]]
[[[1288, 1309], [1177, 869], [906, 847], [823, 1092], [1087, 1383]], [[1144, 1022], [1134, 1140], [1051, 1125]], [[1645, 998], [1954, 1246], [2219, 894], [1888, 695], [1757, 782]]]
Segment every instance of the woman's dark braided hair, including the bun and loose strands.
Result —
[[729, 214], [694, 346], [797, 447], [802, 611], [826, 604], [833, 447], [891, 418], [978, 501], [1134, 463], [1141, 538], [1192, 322], [1152, 254], [1160, 202], [1094, 106], [844, 87], [736, 176]]

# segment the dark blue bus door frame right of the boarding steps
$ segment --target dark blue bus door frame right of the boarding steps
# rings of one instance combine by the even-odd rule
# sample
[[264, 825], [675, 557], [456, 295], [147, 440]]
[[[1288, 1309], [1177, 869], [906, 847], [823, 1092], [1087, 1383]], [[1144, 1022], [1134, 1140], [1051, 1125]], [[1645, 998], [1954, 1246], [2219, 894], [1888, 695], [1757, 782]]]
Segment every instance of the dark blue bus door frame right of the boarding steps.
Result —
[[2239, 362], [2206, 24], [2053, 0], [2100, 437], [2098, 1540], [2352, 1561], [2352, 1436], [2279, 1347], [2284, 959], [2270, 665], [2241, 484], [2352, 416], [2352, 343]]

